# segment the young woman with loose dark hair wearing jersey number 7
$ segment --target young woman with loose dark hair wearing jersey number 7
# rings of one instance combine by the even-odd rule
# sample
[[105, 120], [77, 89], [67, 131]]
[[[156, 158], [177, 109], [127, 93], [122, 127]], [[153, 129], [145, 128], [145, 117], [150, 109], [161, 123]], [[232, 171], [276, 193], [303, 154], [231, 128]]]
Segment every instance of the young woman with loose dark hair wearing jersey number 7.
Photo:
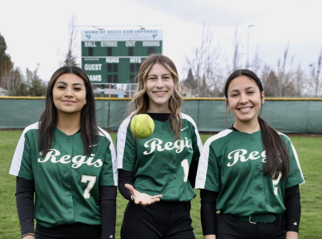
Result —
[[96, 124], [93, 90], [81, 68], [54, 72], [39, 122], [24, 129], [9, 173], [17, 177], [24, 239], [114, 238], [116, 154]]

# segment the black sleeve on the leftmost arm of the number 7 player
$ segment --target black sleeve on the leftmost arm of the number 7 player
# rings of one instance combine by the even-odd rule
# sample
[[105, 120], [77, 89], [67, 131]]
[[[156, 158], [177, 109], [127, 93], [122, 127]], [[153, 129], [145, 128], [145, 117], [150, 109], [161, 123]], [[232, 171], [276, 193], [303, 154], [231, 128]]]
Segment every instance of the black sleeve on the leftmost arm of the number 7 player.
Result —
[[21, 235], [34, 233], [33, 196], [34, 180], [16, 177], [16, 205], [21, 228]]

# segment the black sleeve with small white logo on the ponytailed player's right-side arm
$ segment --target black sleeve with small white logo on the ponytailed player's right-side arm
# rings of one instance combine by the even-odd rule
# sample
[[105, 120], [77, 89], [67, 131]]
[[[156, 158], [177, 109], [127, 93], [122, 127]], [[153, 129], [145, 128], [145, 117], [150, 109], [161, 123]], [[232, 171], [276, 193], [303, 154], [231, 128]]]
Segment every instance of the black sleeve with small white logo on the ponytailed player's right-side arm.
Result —
[[301, 200], [298, 184], [285, 189], [286, 231], [298, 232], [301, 218]]

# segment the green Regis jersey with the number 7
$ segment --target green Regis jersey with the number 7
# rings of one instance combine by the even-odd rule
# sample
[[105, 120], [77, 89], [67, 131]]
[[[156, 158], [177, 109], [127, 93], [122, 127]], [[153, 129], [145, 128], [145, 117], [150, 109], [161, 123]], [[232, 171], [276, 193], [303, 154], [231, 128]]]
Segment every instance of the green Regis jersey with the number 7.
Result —
[[53, 227], [81, 222], [100, 225], [99, 185], [117, 186], [114, 145], [99, 128], [92, 153], [84, 153], [81, 133], [71, 136], [55, 128], [49, 152], [38, 150], [38, 123], [22, 133], [9, 173], [35, 182], [34, 218]]

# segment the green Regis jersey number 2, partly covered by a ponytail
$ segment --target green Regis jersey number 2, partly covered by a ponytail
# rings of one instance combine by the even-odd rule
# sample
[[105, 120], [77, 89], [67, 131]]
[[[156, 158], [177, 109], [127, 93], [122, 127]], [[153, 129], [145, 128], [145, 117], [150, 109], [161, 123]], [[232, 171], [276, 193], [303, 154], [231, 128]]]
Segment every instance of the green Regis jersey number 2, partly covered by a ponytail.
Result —
[[261, 131], [243, 133], [226, 129], [204, 144], [196, 188], [219, 192], [216, 210], [238, 216], [279, 214], [285, 211], [285, 188], [304, 183], [298, 155], [289, 138], [279, 133], [289, 152], [286, 180], [264, 176], [266, 162]]

